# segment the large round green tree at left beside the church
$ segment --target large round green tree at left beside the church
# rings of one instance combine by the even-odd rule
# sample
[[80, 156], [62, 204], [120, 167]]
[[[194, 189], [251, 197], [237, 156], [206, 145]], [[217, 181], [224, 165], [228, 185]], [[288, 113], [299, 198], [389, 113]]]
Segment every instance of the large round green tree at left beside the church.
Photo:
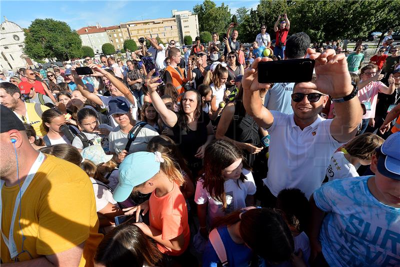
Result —
[[24, 33], [23, 52], [33, 60], [57, 58], [62, 61], [82, 56], [82, 41], [65, 22], [36, 19]]

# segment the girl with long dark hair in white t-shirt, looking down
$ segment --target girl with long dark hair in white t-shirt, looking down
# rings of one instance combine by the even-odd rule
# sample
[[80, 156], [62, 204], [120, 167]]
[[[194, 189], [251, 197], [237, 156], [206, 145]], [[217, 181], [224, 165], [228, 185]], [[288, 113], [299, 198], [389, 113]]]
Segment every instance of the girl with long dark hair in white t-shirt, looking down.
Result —
[[[205, 149], [203, 175], [197, 181], [194, 202], [200, 233], [207, 224], [254, 203], [255, 183], [243, 153], [232, 143], [214, 140]], [[243, 166], [244, 165], [244, 166]]]

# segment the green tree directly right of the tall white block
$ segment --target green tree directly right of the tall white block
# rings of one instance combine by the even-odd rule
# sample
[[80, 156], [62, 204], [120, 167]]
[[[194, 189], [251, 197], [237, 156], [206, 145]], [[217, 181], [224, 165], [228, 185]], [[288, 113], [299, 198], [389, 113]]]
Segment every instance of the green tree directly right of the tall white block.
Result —
[[214, 2], [204, 0], [203, 4], [193, 7], [193, 12], [197, 14], [200, 32], [226, 32], [231, 21], [229, 7], [223, 3], [217, 7]]

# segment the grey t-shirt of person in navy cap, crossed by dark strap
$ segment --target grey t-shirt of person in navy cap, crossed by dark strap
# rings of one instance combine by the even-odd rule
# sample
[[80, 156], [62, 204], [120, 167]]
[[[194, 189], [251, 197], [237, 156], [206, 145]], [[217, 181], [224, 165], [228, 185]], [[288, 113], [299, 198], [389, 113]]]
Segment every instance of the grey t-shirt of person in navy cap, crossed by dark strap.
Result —
[[[133, 153], [138, 151], [146, 151], [147, 143], [151, 140], [151, 138], [157, 135], [158, 133], [153, 127], [148, 124], [144, 125], [137, 134], [136, 139], [134, 139], [134, 141], [130, 144], [128, 152]], [[122, 133], [118, 125], [109, 133], [108, 141], [109, 151], [111, 153], [118, 154], [125, 149], [125, 146], [128, 142], [128, 134]]]

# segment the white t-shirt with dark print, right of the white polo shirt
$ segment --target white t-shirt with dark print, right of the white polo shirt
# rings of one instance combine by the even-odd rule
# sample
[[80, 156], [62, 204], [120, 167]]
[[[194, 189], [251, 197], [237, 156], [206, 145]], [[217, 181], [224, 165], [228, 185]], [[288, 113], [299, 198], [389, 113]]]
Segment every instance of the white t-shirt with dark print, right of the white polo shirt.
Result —
[[326, 169], [326, 176], [329, 181], [347, 177], [359, 176], [354, 165], [348, 162], [341, 151], [335, 152], [330, 158], [329, 166]]

